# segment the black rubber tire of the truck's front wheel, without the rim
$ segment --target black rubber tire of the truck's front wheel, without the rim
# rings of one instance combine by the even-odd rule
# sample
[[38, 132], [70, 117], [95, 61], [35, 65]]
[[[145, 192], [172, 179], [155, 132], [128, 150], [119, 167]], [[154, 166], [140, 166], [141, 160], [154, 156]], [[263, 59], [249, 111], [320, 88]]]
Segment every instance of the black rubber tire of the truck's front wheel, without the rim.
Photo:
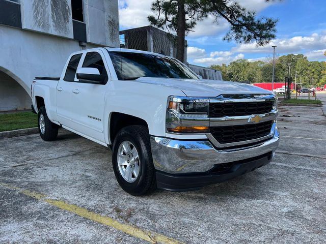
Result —
[[[118, 149], [120, 144], [125, 141], [131, 142], [139, 155], [139, 175], [134, 182], [127, 182], [119, 171]], [[113, 143], [112, 165], [117, 181], [125, 192], [133, 196], [141, 196], [156, 189], [149, 133], [145, 126], [127, 126], [118, 132]]]

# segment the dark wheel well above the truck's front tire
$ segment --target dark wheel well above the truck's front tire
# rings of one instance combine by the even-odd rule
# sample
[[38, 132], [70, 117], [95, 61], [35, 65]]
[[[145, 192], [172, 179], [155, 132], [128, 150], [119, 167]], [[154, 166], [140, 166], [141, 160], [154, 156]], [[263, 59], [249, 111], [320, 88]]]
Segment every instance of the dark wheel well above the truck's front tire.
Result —
[[117, 133], [126, 126], [146, 126], [146, 121], [142, 118], [135, 117], [125, 113], [113, 112], [110, 117], [110, 141], [113, 143]]

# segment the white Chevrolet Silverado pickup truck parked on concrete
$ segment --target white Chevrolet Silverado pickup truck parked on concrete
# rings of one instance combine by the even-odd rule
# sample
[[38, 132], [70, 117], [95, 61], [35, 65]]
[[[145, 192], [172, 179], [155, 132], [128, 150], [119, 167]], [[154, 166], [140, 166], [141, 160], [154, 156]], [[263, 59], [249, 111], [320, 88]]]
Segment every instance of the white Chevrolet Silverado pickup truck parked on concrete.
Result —
[[60, 78], [35, 78], [32, 98], [43, 140], [63, 127], [111, 147], [117, 181], [132, 195], [233, 178], [269, 163], [279, 143], [273, 93], [203, 80], [157, 53], [72, 53]]

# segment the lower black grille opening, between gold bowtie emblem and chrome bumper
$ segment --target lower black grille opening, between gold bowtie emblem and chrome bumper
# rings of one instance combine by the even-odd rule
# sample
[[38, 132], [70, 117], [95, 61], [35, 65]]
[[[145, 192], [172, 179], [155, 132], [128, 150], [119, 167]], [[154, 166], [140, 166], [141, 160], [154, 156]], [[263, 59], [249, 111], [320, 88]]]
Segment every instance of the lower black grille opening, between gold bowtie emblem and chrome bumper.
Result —
[[265, 121], [259, 124], [210, 127], [209, 132], [219, 143], [224, 144], [267, 136], [272, 125], [273, 121]]

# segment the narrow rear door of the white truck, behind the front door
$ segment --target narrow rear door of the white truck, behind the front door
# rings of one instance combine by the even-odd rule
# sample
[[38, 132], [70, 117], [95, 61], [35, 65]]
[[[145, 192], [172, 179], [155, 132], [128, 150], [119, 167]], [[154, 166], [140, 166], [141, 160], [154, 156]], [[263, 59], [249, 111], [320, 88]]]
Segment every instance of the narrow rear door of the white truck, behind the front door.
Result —
[[83, 53], [74, 54], [70, 57], [64, 76], [57, 85], [57, 115], [61, 125], [73, 127], [72, 122], [72, 90], [75, 87], [76, 70]]

